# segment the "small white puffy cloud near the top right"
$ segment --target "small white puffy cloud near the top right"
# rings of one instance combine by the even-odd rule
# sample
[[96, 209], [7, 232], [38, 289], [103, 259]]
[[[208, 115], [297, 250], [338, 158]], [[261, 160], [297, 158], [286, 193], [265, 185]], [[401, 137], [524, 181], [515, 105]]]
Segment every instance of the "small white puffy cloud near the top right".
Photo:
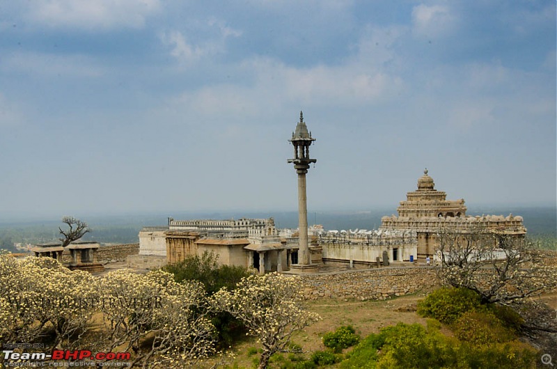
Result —
[[443, 36], [454, 25], [455, 17], [448, 6], [424, 4], [412, 9], [412, 24], [416, 36], [434, 38]]

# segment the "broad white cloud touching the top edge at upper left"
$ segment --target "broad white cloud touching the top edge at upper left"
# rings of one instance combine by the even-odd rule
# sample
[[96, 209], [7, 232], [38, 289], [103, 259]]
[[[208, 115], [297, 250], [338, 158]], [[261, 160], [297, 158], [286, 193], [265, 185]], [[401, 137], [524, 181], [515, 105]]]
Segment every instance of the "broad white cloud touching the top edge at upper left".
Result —
[[159, 0], [35, 0], [29, 1], [29, 19], [51, 27], [109, 30], [142, 28], [160, 8]]

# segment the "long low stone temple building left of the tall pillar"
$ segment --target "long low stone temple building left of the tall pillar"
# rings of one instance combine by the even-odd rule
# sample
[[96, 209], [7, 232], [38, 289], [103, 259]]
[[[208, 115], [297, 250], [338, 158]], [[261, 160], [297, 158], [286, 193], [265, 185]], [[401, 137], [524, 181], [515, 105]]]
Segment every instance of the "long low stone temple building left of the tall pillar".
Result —
[[139, 232], [139, 256], [130, 260], [141, 265], [141, 260], [164, 256], [164, 262], [175, 264], [189, 256], [212, 252], [220, 264], [250, 267], [263, 274], [289, 269], [297, 262], [297, 249], [278, 235], [272, 218], [168, 218], [166, 227], [147, 227]]

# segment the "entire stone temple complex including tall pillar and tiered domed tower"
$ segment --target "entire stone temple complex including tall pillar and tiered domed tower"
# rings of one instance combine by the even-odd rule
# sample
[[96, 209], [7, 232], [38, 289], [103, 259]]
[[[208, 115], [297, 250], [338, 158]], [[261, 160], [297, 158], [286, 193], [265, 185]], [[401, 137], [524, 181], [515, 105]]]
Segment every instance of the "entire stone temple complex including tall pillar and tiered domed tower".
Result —
[[[309, 148], [315, 139], [300, 112], [292, 139], [298, 182], [298, 229], [277, 230], [269, 219], [168, 218], [166, 227], [146, 227], [139, 233], [139, 255], [128, 258], [128, 266], [153, 268], [174, 264], [189, 256], [212, 252], [221, 264], [254, 268], [259, 273], [315, 273], [320, 266], [340, 265], [366, 268], [405, 265], [423, 261], [436, 253], [440, 230], [469, 233], [489, 230], [523, 237], [526, 228], [521, 217], [476, 216], [466, 214], [464, 199], [447, 200], [435, 189], [427, 168], [418, 178], [418, 188], [406, 195], [398, 206], [398, 216], [383, 217], [377, 230], [324, 230], [309, 227], [307, 217], [306, 174], [317, 160]], [[54, 251], [54, 249], [52, 249]], [[57, 251], [50, 252], [56, 255]]]

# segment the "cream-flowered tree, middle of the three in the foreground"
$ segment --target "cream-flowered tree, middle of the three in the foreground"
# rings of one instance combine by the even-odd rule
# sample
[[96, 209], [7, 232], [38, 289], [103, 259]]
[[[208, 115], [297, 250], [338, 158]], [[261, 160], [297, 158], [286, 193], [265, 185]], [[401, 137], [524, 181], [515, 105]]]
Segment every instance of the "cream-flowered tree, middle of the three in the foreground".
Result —
[[[201, 283], [176, 283], [162, 271], [120, 269], [101, 278], [100, 290], [100, 311], [110, 327], [103, 350], [125, 345], [125, 351], [136, 353], [132, 364], [143, 366], [193, 366], [214, 354], [215, 330]], [[143, 350], [147, 338], [150, 345]]]

